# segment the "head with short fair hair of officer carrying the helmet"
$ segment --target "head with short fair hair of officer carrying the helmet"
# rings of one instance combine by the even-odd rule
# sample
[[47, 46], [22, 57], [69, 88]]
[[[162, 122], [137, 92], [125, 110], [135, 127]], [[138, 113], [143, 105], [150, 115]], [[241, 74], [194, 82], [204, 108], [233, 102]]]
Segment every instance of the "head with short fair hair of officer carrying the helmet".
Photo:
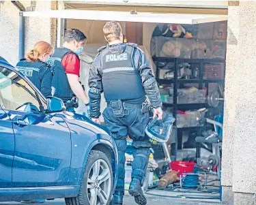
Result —
[[122, 35], [122, 27], [119, 22], [109, 21], [103, 27], [103, 33], [108, 42], [112, 42], [113, 40], [119, 40]]

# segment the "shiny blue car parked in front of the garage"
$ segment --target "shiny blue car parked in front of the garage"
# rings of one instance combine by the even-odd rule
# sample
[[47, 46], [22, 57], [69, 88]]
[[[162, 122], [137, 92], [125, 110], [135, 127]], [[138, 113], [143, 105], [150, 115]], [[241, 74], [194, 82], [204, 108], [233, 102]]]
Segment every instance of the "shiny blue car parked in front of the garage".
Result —
[[0, 60], [0, 202], [109, 204], [118, 165], [111, 133], [65, 109]]

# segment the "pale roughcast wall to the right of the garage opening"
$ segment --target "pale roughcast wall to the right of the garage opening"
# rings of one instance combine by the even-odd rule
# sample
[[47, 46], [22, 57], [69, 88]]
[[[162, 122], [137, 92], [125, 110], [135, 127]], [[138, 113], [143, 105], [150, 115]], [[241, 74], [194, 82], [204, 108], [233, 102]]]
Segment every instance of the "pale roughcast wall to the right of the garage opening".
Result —
[[256, 191], [256, 2], [229, 4], [223, 129], [223, 204], [251, 205]]

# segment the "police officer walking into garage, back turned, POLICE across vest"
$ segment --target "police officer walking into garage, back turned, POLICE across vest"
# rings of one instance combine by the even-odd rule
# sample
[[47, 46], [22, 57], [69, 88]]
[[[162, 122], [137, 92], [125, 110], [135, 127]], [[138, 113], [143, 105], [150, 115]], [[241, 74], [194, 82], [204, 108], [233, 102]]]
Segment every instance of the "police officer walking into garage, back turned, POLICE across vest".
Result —
[[91, 120], [100, 123], [100, 93], [108, 106], [102, 113], [106, 127], [113, 134], [119, 152], [117, 187], [111, 204], [122, 204], [124, 195], [124, 163], [126, 161], [126, 138], [129, 136], [134, 147], [130, 195], [137, 204], [146, 204], [141, 187], [147, 170], [151, 144], [145, 136], [149, 123], [146, 97], [154, 108], [154, 117], [162, 117], [162, 101], [156, 79], [148, 66], [147, 59], [137, 44], [123, 44], [122, 28], [118, 22], [106, 22], [103, 28], [109, 43], [98, 50], [89, 74], [89, 104]]

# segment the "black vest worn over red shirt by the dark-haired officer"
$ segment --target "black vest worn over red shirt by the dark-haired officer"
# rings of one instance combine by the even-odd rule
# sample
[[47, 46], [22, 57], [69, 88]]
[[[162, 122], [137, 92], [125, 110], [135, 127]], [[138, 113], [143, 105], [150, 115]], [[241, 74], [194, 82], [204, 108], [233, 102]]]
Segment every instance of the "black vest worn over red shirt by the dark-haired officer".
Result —
[[59, 97], [64, 102], [74, 97], [74, 93], [70, 88], [70, 84], [68, 82], [66, 69], [61, 63], [63, 57], [65, 57], [66, 54], [69, 53], [75, 54], [76, 57], [78, 57], [76, 53], [72, 52], [72, 50], [68, 48], [55, 48], [54, 54], [48, 59], [48, 63], [52, 65], [54, 69], [54, 76], [52, 82], [52, 86], [55, 88], [54, 96]]

